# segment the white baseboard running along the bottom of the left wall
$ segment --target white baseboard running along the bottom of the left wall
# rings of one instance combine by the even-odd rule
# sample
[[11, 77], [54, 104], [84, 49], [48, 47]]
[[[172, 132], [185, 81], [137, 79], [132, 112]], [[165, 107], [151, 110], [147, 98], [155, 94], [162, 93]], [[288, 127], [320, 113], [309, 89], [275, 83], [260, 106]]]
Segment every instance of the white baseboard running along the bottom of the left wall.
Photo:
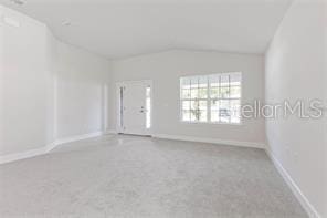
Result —
[[84, 135], [75, 135], [72, 137], [60, 138], [49, 145], [40, 147], [40, 148], [30, 149], [30, 150], [22, 152], [22, 153], [2, 155], [2, 156], [0, 156], [0, 164], [6, 164], [6, 163], [10, 163], [10, 162], [20, 160], [20, 159], [31, 158], [31, 157], [39, 156], [39, 155], [44, 155], [61, 144], [72, 143], [75, 141], [82, 141], [82, 139], [86, 139], [86, 138], [91, 138], [91, 137], [97, 137], [101, 135], [103, 135], [103, 132], [95, 132], [95, 133], [89, 133], [89, 134], [84, 134]]

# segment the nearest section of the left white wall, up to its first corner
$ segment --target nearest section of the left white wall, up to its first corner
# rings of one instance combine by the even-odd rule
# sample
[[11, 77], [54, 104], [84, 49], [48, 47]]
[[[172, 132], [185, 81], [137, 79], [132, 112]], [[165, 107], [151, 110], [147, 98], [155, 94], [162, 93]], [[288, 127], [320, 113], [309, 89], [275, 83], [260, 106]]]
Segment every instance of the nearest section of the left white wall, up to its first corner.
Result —
[[[42, 147], [52, 142], [51, 42], [48, 28], [2, 8], [0, 80], [0, 155]], [[20, 27], [11, 27], [12, 18]]]

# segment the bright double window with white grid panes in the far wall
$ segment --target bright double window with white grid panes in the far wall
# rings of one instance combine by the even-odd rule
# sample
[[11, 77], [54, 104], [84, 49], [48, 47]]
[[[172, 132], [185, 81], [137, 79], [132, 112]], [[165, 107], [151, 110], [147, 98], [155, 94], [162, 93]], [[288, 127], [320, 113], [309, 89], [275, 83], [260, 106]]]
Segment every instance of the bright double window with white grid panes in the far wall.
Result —
[[181, 121], [241, 123], [241, 81], [242, 73], [181, 77]]

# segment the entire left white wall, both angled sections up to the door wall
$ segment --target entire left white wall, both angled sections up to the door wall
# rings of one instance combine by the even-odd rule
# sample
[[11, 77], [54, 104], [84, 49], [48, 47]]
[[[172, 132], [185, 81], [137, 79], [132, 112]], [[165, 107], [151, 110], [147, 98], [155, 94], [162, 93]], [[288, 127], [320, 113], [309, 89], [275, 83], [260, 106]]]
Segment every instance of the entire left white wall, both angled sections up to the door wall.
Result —
[[107, 60], [57, 41], [43, 23], [2, 6], [0, 49], [0, 156], [106, 127]]

